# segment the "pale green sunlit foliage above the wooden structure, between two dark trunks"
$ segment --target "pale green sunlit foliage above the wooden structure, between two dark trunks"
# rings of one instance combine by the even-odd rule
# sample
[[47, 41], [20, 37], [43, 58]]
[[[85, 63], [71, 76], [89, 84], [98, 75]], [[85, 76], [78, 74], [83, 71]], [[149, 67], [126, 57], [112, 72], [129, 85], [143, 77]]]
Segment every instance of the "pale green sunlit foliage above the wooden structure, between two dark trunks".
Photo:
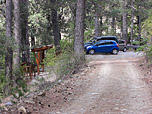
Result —
[[[37, 1], [30, 1], [31, 4], [29, 6], [29, 34], [36, 38], [36, 46], [48, 45], [53, 41], [50, 22], [44, 14], [44, 7], [42, 4], [37, 4]], [[34, 5], [37, 4], [37, 5]], [[46, 9], [46, 11], [48, 11]], [[49, 10], [50, 11], [50, 10]], [[49, 13], [49, 12], [48, 12]], [[33, 47], [32, 47], [33, 48]]]

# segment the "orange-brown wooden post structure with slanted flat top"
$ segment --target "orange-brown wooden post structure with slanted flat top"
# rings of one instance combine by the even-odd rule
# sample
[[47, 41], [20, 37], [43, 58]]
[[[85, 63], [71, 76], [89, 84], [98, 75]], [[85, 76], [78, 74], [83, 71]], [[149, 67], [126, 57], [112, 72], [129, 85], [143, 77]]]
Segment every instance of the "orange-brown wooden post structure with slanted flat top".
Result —
[[43, 59], [45, 57], [45, 53], [44, 53], [45, 50], [50, 49], [50, 48], [53, 48], [53, 45], [47, 45], [44, 47], [31, 49], [36, 59], [38, 75], [40, 74], [40, 65], [42, 66], [42, 72], [44, 72], [44, 64], [41, 64], [41, 62], [43, 62]]

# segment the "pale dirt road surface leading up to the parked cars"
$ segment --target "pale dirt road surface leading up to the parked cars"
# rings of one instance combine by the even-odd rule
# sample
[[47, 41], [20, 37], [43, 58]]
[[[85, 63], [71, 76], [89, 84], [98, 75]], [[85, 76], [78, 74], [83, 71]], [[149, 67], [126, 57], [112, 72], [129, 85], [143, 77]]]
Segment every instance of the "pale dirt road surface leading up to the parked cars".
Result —
[[152, 114], [152, 93], [136, 65], [141, 55], [128, 54], [89, 56], [106, 60], [91, 61], [80, 95], [50, 114]]

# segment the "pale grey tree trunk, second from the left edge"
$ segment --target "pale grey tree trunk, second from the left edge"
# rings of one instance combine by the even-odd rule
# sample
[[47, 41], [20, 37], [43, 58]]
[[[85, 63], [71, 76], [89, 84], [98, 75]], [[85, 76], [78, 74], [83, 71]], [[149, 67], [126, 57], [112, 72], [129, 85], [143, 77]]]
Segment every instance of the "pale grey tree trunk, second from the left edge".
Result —
[[13, 0], [14, 4], [14, 37], [15, 37], [15, 50], [13, 57], [14, 70], [18, 70], [20, 67], [20, 48], [21, 48], [21, 27], [20, 27], [20, 2], [19, 0]]

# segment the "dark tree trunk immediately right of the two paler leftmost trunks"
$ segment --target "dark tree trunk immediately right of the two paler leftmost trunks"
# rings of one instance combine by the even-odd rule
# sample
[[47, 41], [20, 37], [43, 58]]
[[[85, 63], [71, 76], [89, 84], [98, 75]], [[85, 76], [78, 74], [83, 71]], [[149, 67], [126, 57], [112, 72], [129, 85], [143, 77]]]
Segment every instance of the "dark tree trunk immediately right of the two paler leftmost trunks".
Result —
[[21, 44], [22, 61], [30, 62], [29, 35], [28, 35], [28, 0], [20, 0], [21, 9]]

